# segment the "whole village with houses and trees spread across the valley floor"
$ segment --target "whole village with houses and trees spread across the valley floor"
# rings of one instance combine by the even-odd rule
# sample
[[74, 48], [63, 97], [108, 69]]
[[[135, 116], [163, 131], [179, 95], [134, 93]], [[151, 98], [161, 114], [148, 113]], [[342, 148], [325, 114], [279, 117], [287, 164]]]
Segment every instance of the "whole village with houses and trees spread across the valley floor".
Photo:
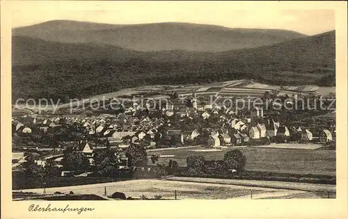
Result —
[[[51, 165], [53, 161], [61, 168], [61, 176], [72, 175], [74, 171], [64, 170], [62, 165], [65, 152], [81, 152], [93, 167], [97, 149], [116, 149], [118, 168], [132, 168], [127, 156], [130, 145], [146, 149], [151, 159], [159, 156], [156, 150], [180, 147], [229, 149], [277, 147], [283, 143], [295, 149], [306, 144], [317, 145], [315, 148], [335, 146], [335, 118], [326, 116], [333, 114], [332, 111], [287, 111], [284, 106], [289, 104], [289, 98], [283, 98], [278, 111], [270, 107], [274, 105], [272, 102], [241, 110], [226, 105], [212, 106], [207, 104], [207, 96], [202, 101], [194, 92], [185, 99], [175, 92], [166, 98], [162, 108], [161, 104], [155, 106], [156, 102], [144, 102], [143, 106], [133, 103], [127, 108], [120, 106], [121, 110], [113, 114], [15, 115], [13, 152], [22, 156], [13, 158], [13, 170], [21, 172], [22, 164], [27, 161], [24, 154], [34, 153], [35, 165], [45, 167], [47, 161]], [[316, 114], [308, 118], [308, 112]], [[304, 118], [299, 119], [299, 115]], [[149, 156], [151, 151], [155, 152]], [[149, 162], [153, 163], [156, 162]]]

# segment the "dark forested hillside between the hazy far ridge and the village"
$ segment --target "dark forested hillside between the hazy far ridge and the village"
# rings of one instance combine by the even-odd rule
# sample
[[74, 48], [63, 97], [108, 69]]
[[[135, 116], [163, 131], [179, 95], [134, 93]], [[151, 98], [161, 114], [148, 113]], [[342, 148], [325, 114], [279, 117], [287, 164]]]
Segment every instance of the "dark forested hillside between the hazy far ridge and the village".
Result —
[[14, 36], [12, 57], [13, 98], [88, 97], [134, 86], [232, 79], [335, 84], [335, 31], [222, 52], [144, 52]]

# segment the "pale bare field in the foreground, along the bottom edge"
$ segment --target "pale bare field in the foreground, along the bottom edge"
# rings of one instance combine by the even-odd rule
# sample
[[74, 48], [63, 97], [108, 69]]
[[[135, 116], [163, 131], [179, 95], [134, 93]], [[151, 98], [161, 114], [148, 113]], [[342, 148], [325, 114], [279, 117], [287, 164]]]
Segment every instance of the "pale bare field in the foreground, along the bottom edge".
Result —
[[[127, 197], [153, 197], [161, 195], [162, 198], [174, 199], [175, 190], [177, 190], [178, 199], [228, 199], [233, 197], [246, 196], [251, 193], [275, 193], [282, 190], [273, 188], [258, 188], [248, 186], [235, 186], [227, 184], [209, 184], [186, 181], [166, 181], [156, 179], [141, 179], [131, 181], [120, 181], [106, 184], [92, 184], [84, 186], [67, 186], [59, 188], [47, 188], [47, 193], [69, 193], [75, 194], [96, 194], [104, 195], [104, 186], [106, 186], [106, 195], [112, 195], [116, 191], [125, 193]], [[42, 188], [22, 190], [23, 192], [42, 193]]]

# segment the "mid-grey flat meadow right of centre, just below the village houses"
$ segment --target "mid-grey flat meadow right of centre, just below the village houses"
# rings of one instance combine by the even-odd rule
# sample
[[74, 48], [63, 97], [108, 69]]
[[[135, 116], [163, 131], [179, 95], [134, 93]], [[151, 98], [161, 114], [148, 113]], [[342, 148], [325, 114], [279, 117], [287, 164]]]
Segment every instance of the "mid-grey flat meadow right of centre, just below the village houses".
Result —
[[[168, 165], [169, 159], [172, 159], [177, 161], [178, 165], [186, 166], [187, 156], [204, 156], [206, 160], [221, 160], [223, 159], [223, 154], [230, 149], [232, 148], [223, 149], [222, 151], [216, 150], [216, 152], [194, 152], [193, 149], [175, 149], [153, 153], [148, 152], [148, 156], [155, 153], [175, 155], [171, 158], [160, 158], [159, 163]], [[238, 149], [246, 156], [246, 170], [335, 176], [335, 151], [261, 147]]]

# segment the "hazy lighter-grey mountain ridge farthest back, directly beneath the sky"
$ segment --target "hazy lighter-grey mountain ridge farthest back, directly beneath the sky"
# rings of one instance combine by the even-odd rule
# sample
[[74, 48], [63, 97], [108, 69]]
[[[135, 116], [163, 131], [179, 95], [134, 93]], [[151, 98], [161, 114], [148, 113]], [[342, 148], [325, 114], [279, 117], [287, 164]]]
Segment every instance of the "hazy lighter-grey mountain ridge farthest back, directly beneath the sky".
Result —
[[276, 44], [307, 35], [271, 29], [229, 29], [188, 23], [98, 24], [54, 20], [13, 29], [15, 36], [51, 42], [113, 45], [137, 51], [227, 51]]

